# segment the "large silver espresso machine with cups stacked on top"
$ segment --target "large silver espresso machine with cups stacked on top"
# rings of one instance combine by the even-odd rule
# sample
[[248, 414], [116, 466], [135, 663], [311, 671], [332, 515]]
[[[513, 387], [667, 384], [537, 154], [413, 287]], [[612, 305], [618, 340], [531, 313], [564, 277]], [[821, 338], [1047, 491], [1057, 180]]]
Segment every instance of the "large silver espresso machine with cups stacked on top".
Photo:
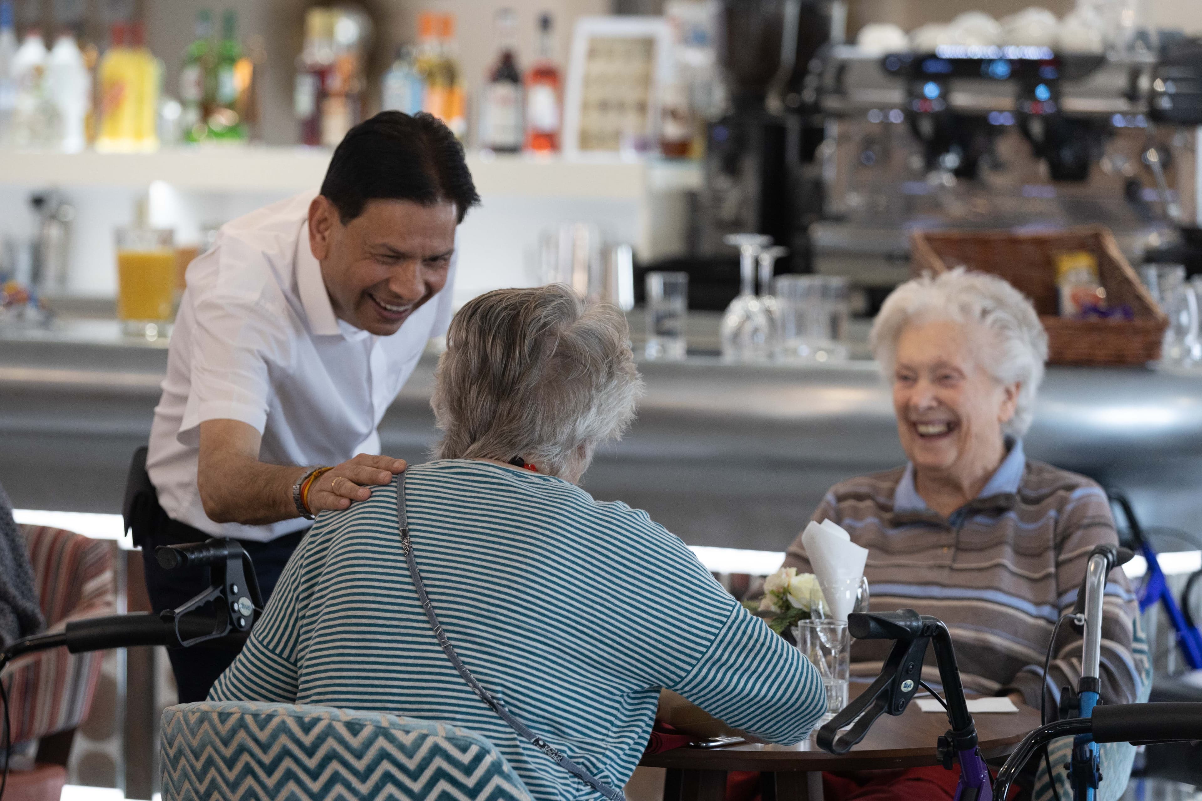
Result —
[[815, 270], [851, 277], [864, 311], [910, 276], [915, 229], [1100, 223], [1132, 261], [1177, 238], [1152, 54], [833, 46], [821, 66]]

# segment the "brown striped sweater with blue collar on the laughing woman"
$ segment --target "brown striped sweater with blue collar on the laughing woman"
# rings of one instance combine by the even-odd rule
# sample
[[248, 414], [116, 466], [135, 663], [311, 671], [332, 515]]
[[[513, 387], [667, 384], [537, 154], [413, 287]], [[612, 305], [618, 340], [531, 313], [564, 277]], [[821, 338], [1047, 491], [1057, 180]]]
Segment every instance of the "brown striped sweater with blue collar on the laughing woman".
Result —
[[[927, 508], [909, 465], [837, 484], [814, 513], [814, 520], [826, 518], [868, 549], [873, 611], [910, 608], [947, 624], [966, 687], [1017, 689], [1039, 706], [1043, 685], [1049, 710], [1061, 686], [1077, 687], [1081, 638], [1069, 624], [1057, 636], [1049, 681], [1041, 677], [1052, 627], [1076, 602], [1090, 550], [1118, 542], [1097, 484], [1027, 460], [1016, 442], [981, 495], [951, 518]], [[785, 564], [811, 569], [801, 537]], [[1147, 665], [1132, 656], [1136, 602], [1121, 569], [1109, 575], [1103, 612], [1101, 695], [1108, 704], [1131, 703]], [[879, 673], [891, 645], [856, 641], [852, 673]], [[932, 651], [923, 673], [938, 681]]]

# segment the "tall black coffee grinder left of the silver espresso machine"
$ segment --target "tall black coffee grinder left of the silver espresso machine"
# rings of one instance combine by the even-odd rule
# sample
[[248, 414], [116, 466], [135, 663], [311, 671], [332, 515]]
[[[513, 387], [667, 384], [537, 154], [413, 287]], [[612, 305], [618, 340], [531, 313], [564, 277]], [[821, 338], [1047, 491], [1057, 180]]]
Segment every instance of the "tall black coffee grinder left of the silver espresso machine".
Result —
[[725, 309], [738, 292], [738, 257], [725, 244], [732, 234], [767, 234], [787, 247], [778, 273], [810, 271], [823, 127], [807, 82], [844, 18], [837, 0], [724, 0], [718, 55], [730, 113], [708, 125], [690, 256], [668, 265], [689, 270], [695, 307]]

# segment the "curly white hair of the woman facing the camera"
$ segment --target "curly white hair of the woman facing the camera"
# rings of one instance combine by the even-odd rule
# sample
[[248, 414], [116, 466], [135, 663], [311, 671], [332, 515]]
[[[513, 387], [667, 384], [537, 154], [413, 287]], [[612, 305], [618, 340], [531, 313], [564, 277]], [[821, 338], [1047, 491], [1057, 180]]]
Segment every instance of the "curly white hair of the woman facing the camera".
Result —
[[893, 379], [902, 331], [932, 319], [980, 325], [992, 335], [981, 365], [1002, 384], [1022, 382], [1014, 416], [1002, 431], [1016, 437], [1027, 434], [1048, 358], [1048, 335], [1031, 301], [1006, 280], [964, 268], [906, 281], [885, 299], [869, 336], [887, 381]]

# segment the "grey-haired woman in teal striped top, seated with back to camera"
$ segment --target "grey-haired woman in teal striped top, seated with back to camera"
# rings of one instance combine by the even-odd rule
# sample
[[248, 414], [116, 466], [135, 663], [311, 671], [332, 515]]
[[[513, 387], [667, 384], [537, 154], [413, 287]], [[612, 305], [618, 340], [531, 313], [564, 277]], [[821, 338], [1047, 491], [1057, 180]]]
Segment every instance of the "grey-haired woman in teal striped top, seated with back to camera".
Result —
[[[611, 787], [637, 764], [661, 688], [770, 742], [826, 709], [814, 668], [688, 548], [577, 486], [642, 390], [625, 319], [563, 285], [456, 316], [432, 405], [436, 459], [403, 476], [417, 564], [450, 641], [518, 719]], [[323, 513], [210, 700], [322, 704], [484, 735], [534, 799], [589, 788], [456, 673], [418, 605], [395, 485]]]

